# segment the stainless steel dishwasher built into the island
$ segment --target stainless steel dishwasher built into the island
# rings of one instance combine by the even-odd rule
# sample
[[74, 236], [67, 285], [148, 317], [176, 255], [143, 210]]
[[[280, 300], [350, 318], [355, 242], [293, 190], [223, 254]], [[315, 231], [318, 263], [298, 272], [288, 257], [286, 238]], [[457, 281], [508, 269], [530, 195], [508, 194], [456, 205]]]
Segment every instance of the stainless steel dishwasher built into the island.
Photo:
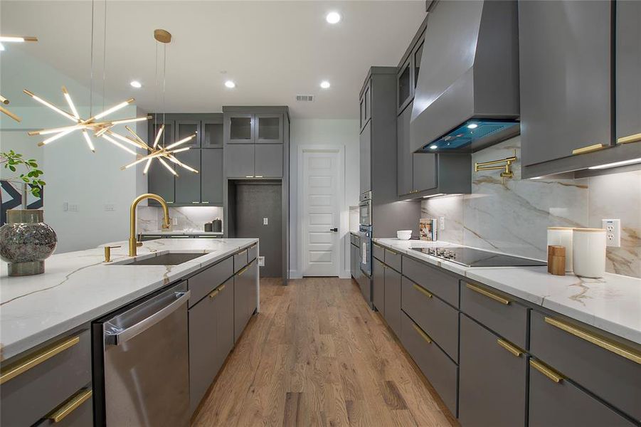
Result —
[[188, 426], [186, 282], [94, 322], [95, 426]]

